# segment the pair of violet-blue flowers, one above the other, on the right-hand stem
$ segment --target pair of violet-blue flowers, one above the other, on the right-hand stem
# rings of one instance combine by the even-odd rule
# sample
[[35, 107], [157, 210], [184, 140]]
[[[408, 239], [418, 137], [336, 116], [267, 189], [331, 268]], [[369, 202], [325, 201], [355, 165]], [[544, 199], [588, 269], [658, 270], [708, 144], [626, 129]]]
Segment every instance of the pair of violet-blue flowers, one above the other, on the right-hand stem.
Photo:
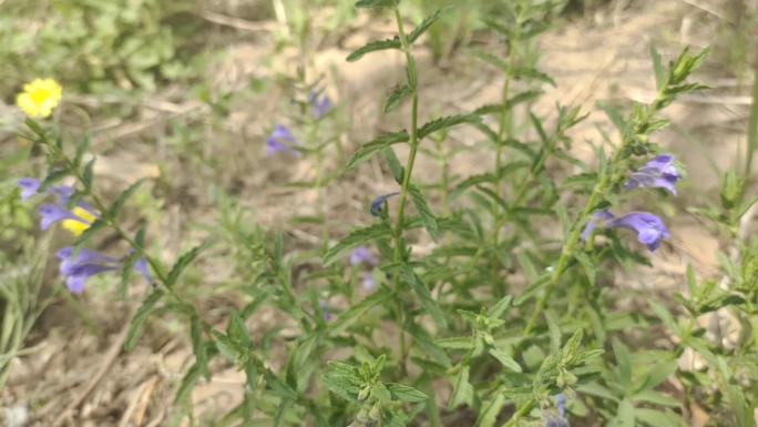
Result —
[[[624, 187], [634, 189], [664, 189], [676, 195], [676, 182], [680, 179], [674, 156], [662, 154], [647, 162], [644, 166], [632, 173]], [[622, 216], [615, 216], [608, 211], [596, 212], [582, 232], [582, 238], [586, 241], [597, 227], [626, 228], [637, 233], [637, 241], [651, 252], [660, 246], [664, 238], [670, 237], [663, 220], [649, 212], [629, 212]]]

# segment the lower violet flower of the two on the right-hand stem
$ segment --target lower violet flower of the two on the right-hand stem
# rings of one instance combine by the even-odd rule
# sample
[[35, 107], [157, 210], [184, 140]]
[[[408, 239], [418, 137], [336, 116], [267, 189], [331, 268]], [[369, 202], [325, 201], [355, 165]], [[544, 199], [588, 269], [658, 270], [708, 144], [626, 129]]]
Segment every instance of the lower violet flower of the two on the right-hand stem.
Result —
[[587, 223], [582, 232], [582, 238], [587, 240], [597, 223], [603, 222], [605, 228], [627, 228], [637, 233], [637, 241], [647, 246], [651, 252], [660, 246], [660, 241], [670, 237], [670, 233], [664, 222], [648, 212], [629, 212], [626, 215], [614, 217], [607, 211], [598, 212]]

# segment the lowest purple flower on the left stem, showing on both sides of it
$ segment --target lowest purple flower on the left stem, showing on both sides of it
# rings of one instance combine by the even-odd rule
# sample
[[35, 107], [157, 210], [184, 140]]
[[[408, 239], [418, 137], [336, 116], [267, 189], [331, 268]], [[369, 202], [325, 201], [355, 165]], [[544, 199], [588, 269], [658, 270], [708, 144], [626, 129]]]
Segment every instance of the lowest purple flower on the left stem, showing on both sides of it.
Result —
[[[104, 272], [119, 271], [124, 267], [124, 264], [121, 261], [86, 248], [81, 248], [79, 253], [74, 255], [73, 247], [63, 247], [58, 251], [57, 255], [61, 261], [59, 270], [61, 275], [65, 278], [65, 286], [74, 294], [84, 292], [84, 284], [90, 277]], [[134, 271], [140, 273], [148, 283], [153, 283], [153, 278], [147, 270], [147, 263], [144, 258], [137, 260], [134, 264]]]

